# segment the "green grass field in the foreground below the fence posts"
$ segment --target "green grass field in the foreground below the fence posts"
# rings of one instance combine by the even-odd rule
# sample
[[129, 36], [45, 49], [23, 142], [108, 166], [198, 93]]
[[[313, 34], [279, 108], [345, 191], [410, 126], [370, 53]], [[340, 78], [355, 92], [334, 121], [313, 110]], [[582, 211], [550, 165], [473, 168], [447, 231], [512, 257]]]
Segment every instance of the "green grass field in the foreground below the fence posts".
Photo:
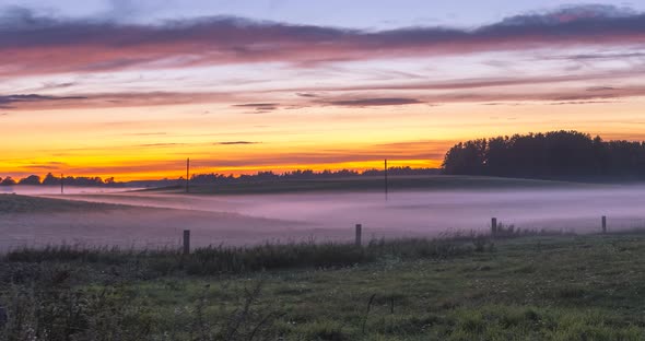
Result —
[[[14, 250], [3, 340], [643, 340], [645, 239]], [[263, 269], [263, 270], [262, 270]]]

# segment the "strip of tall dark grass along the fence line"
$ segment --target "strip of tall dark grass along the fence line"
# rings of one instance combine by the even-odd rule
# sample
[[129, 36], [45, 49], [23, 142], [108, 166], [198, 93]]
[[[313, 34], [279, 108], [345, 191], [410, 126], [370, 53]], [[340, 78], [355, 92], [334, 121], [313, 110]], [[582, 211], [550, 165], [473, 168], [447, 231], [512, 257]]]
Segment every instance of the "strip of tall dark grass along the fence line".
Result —
[[[495, 238], [529, 235], [565, 234], [537, 230], [519, 230], [500, 224]], [[294, 268], [343, 268], [384, 259], [439, 259], [471, 252], [494, 250], [491, 236], [476, 232], [453, 232], [437, 238], [372, 239], [362, 247], [350, 243], [286, 243], [234, 247], [209, 246], [183, 255], [180, 249], [86, 248], [74, 245], [14, 249], [0, 257], [0, 263], [77, 262], [99, 266], [129, 264], [149, 275], [225, 274]]]

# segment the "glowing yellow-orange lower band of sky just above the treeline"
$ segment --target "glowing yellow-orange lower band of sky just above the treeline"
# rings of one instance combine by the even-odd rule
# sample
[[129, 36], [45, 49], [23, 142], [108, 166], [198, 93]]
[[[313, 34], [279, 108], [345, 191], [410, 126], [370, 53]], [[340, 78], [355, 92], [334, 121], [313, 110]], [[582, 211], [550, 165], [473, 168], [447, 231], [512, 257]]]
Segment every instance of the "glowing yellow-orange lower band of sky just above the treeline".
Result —
[[11, 148], [2, 153], [0, 176], [173, 178], [184, 175], [186, 157], [194, 173], [362, 169], [380, 167], [386, 157], [392, 166], [437, 167], [452, 144], [476, 137], [576, 129], [641, 139], [643, 101], [324, 107], [271, 115], [219, 104], [24, 110], [2, 117], [2, 139]]

